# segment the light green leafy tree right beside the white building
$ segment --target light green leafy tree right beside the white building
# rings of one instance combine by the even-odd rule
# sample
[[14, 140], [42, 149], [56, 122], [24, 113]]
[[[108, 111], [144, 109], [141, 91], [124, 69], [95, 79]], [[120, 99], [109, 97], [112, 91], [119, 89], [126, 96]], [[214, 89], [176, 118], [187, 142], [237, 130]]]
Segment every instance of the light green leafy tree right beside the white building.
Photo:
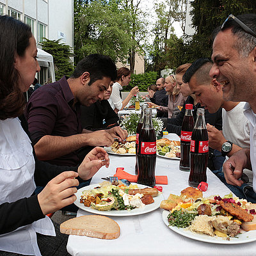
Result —
[[132, 45], [127, 34], [129, 16], [120, 13], [118, 1], [75, 0], [74, 5], [76, 61], [99, 53], [126, 62]]

